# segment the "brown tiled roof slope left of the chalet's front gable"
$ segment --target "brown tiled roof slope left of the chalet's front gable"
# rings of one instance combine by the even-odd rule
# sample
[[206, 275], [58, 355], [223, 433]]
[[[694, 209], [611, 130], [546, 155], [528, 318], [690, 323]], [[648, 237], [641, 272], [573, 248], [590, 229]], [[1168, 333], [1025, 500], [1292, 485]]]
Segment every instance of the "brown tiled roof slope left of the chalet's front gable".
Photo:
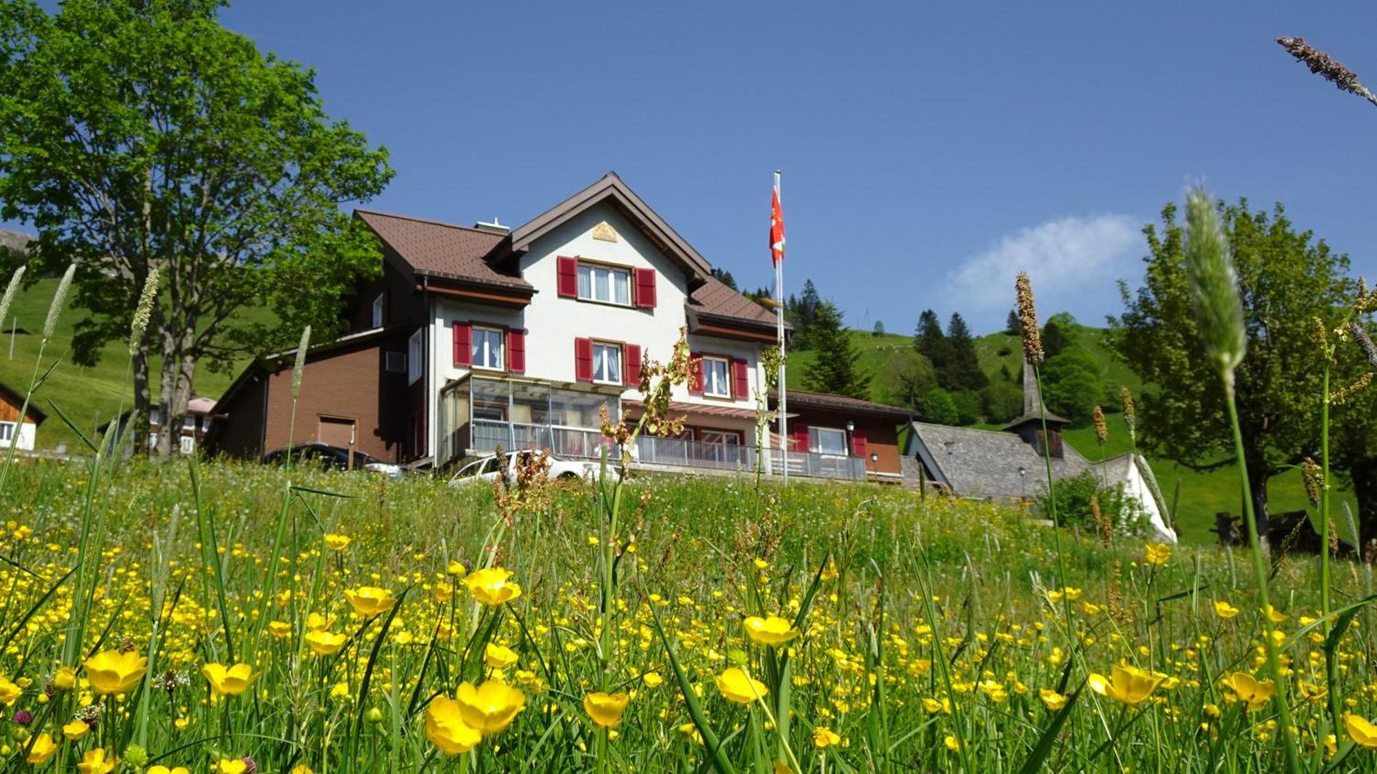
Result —
[[482, 285], [530, 289], [530, 284], [497, 270], [487, 255], [507, 237], [439, 220], [355, 209], [413, 273]]

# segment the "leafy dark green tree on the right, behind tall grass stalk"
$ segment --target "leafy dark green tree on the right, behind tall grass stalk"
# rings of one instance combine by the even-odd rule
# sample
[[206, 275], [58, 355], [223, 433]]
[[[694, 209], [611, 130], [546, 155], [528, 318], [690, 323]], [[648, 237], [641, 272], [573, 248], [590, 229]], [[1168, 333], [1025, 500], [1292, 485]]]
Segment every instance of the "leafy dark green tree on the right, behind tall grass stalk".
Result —
[[[1238, 412], [1259, 532], [1265, 534], [1267, 481], [1318, 448], [1319, 368], [1311, 320], [1327, 320], [1351, 296], [1348, 258], [1297, 231], [1276, 204], [1217, 204], [1238, 266], [1248, 355], [1237, 372]], [[1191, 314], [1176, 207], [1161, 229], [1143, 229], [1150, 255], [1143, 285], [1121, 282], [1125, 313], [1110, 346], [1143, 380], [1140, 441], [1192, 470], [1232, 463], [1221, 386]]]

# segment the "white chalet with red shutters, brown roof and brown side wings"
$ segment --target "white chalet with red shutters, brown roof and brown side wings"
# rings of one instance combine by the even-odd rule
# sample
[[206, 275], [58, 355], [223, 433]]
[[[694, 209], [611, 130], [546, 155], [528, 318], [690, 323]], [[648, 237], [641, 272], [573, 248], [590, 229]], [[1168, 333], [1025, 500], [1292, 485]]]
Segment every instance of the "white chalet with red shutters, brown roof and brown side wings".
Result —
[[[377, 236], [383, 273], [353, 299], [351, 332], [307, 354], [295, 427], [295, 353], [270, 355], [218, 404], [224, 419], [207, 439], [212, 453], [256, 457], [291, 438], [416, 467], [497, 446], [598, 457], [599, 410], [636, 419], [642, 358], [668, 359], [686, 329], [697, 373], [671, 405], [684, 432], [643, 437], [636, 463], [755, 470], [755, 395], [774, 313], [713, 278], [708, 260], [616, 174], [515, 229], [362, 209], [355, 218]], [[792, 442], [792, 472], [898, 470], [894, 426], [906, 416], [865, 401], [814, 401], [823, 412], [812, 421], [818, 432]], [[799, 398], [790, 413], [803, 416], [806, 404]], [[890, 427], [872, 430], [877, 417]], [[828, 434], [847, 421], [859, 434]], [[775, 448], [761, 467], [778, 472], [781, 457]]]

